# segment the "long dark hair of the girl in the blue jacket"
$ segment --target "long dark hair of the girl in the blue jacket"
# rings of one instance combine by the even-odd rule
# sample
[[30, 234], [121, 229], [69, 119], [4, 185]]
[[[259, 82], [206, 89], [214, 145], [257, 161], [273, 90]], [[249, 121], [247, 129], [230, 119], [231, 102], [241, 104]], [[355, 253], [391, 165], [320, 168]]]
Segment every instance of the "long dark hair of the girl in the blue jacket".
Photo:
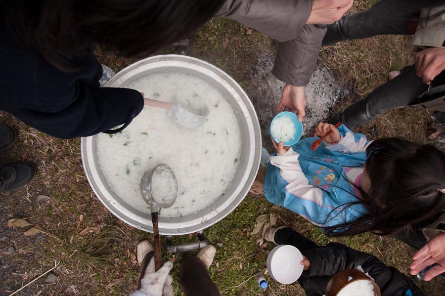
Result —
[[326, 234], [395, 234], [445, 210], [445, 193], [439, 191], [445, 188], [443, 152], [432, 145], [385, 138], [373, 141], [366, 155], [371, 186], [368, 193], [357, 189], [368, 213], [355, 221], [326, 227]]

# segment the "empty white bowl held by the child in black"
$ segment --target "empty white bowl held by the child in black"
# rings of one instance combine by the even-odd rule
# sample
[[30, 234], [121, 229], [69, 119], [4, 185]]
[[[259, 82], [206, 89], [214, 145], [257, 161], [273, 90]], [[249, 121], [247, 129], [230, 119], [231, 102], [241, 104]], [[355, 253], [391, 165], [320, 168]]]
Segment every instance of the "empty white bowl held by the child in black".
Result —
[[267, 255], [267, 272], [281, 284], [295, 283], [301, 276], [304, 266], [301, 252], [290, 245], [279, 245]]

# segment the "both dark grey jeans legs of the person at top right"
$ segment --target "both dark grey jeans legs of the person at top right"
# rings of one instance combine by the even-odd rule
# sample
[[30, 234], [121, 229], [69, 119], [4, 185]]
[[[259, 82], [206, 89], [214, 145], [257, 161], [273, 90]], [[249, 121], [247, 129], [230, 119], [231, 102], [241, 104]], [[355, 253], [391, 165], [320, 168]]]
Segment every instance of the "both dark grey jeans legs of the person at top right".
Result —
[[[323, 45], [377, 35], [412, 35], [420, 9], [441, 3], [439, 0], [381, 0], [367, 11], [346, 15], [327, 27]], [[362, 100], [336, 115], [335, 122], [353, 128], [370, 121], [389, 109], [417, 102], [417, 96], [428, 85], [416, 75], [415, 66], [407, 66], [401, 74], [374, 89]]]

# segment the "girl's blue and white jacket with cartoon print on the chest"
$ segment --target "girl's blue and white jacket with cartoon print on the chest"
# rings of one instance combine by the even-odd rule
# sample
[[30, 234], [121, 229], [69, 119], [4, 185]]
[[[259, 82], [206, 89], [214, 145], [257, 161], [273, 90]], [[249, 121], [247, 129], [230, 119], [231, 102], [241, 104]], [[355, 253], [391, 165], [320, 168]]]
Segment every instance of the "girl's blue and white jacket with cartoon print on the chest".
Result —
[[294, 211], [317, 226], [351, 222], [367, 213], [359, 202], [345, 168], [363, 168], [369, 141], [344, 125], [338, 128], [341, 140], [336, 144], [323, 141], [312, 151], [305, 138], [282, 155], [273, 154], [267, 167], [264, 192], [267, 200]]

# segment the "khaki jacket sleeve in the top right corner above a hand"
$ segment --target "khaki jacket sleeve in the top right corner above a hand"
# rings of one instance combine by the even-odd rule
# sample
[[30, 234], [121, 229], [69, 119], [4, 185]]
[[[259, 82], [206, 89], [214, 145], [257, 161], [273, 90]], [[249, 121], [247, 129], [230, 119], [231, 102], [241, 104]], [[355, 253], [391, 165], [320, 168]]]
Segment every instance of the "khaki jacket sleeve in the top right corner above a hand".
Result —
[[420, 51], [426, 47], [443, 47], [445, 42], [445, 4], [422, 8], [416, 33], [409, 50]]

